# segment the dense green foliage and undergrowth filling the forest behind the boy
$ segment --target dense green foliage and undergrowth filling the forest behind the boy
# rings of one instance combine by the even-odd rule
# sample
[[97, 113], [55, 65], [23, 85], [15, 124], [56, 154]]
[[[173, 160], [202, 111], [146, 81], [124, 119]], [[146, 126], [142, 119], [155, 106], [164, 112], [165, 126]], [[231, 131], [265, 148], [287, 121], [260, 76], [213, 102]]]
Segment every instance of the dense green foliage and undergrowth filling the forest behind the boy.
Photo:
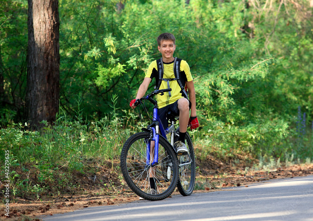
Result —
[[82, 170], [86, 155], [113, 160], [141, 127], [138, 110], [125, 107], [161, 56], [162, 32], [175, 35], [175, 56], [194, 77], [200, 128], [191, 135], [202, 145], [198, 157], [312, 159], [312, 129], [305, 126], [299, 138], [296, 123], [299, 106], [305, 125], [313, 120], [308, 1], [127, 0], [118, 10], [117, 0], [59, 0], [60, 112], [41, 132], [9, 123], [25, 120], [27, 2], [3, 2], [0, 142], [11, 145], [19, 163], [54, 159]]

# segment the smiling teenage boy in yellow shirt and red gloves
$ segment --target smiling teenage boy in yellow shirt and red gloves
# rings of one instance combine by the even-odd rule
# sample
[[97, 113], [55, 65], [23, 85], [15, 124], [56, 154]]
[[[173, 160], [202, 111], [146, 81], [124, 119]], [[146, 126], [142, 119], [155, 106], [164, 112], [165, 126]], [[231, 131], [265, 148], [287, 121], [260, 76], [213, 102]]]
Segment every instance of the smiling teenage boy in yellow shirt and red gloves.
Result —
[[[190, 125], [190, 129], [195, 129], [199, 126], [197, 114], [196, 114], [196, 93], [193, 85], [193, 78], [190, 73], [189, 65], [186, 61], [180, 61], [180, 76], [182, 78], [181, 82], [183, 85], [186, 84], [189, 92], [189, 100], [187, 94], [182, 90], [179, 82], [175, 79], [174, 73], [174, 60], [173, 53], [176, 49], [175, 37], [170, 33], [163, 33], [157, 38], [158, 50], [162, 54], [163, 62], [163, 77], [159, 89], [172, 88], [172, 91], [165, 92], [163, 96], [157, 95], [156, 101], [159, 107], [159, 116], [162, 121], [163, 127], [168, 127], [167, 112], [171, 110], [172, 114], [179, 115], [179, 139], [175, 142], [177, 147], [177, 153], [187, 152], [187, 147], [185, 145], [185, 137], [187, 132], [187, 126]], [[141, 83], [136, 99], [130, 102], [131, 108], [135, 108], [134, 103], [137, 99], [143, 97], [146, 94], [148, 86], [152, 78], [159, 79], [158, 64], [152, 61], [149, 65], [146, 76]], [[189, 110], [191, 114], [189, 117]]]

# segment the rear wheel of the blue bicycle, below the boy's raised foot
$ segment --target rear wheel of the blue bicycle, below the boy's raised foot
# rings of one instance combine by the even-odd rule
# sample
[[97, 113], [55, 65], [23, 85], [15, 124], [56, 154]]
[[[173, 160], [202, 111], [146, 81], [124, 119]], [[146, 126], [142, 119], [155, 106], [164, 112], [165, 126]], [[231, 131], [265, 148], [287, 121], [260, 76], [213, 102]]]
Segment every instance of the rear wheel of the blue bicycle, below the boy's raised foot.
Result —
[[[179, 132], [175, 132], [174, 143], [178, 140]], [[196, 162], [192, 145], [192, 140], [187, 132], [186, 134], [186, 147], [189, 150], [187, 153], [177, 154], [178, 166], [184, 163], [190, 163], [179, 167], [177, 189], [183, 196], [190, 196], [192, 194], [195, 181], [196, 181]]]

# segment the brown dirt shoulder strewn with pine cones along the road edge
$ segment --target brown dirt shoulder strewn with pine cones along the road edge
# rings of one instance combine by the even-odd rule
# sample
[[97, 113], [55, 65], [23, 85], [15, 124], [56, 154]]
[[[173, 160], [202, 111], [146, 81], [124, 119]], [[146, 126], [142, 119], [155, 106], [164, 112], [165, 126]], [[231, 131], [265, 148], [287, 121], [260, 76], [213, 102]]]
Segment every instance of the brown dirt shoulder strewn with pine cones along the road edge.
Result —
[[[313, 174], [313, 164], [292, 165], [267, 171], [247, 171], [235, 166], [206, 169], [197, 174], [194, 193], [206, 193], [221, 190], [229, 186], [246, 186], [269, 179], [291, 178]], [[125, 186], [124, 186], [125, 187]], [[38, 216], [67, 213], [91, 206], [122, 204], [138, 200], [139, 197], [127, 187], [103, 192], [90, 189], [85, 192], [63, 193], [57, 196], [42, 196], [39, 200], [13, 199], [10, 202], [10, 217], [4, 215], [4, 205], [0, 205], [1, 220], [41, 220]], [[177, 190], [173, 194], [179, 194]]]

